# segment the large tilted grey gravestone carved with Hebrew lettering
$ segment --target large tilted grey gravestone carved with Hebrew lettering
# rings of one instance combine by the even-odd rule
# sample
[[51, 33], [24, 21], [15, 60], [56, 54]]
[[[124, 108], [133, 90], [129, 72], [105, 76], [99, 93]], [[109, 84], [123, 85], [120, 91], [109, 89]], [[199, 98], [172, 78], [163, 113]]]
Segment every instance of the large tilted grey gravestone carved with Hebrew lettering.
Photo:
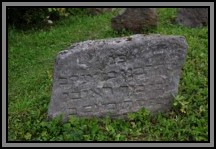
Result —
[[48, 116], [166, 111], [178, 92], [186, 49], [182, 36], [141, 34], [74, 44], [56, 58]]

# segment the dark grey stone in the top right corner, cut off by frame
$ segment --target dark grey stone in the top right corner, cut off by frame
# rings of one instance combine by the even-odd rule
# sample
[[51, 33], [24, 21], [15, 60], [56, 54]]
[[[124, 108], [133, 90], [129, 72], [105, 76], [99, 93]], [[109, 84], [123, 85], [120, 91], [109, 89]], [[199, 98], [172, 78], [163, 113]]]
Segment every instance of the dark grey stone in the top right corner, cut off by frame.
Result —
[[176, 22], [188, 27], [208, 25], [208, 8], [178, 8]]

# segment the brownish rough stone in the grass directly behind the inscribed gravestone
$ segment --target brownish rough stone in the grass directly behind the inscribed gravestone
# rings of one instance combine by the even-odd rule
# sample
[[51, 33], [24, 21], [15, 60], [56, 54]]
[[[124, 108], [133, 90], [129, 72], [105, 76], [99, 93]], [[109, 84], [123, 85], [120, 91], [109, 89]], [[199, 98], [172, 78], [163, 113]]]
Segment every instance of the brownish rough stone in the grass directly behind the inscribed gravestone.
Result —
[[127, 8], [120, 15], [112, 18], [112, 28], [116, 31], [128, 30], [142, 33], [157, 27], [156, 8]]

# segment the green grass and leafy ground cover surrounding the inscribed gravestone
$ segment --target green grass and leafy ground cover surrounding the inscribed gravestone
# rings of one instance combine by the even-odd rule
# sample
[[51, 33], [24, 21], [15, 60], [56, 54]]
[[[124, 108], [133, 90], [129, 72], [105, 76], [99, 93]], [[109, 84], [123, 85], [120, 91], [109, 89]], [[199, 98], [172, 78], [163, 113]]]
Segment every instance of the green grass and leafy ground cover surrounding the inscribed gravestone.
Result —
[[89, 39], [130, 35], [111, 29], [112, 14], [69, 17], [51, 29], [8, 30], [9, 141], [208, 141], [208, 28], [172, 24], [175, 9], [158, 11], [155, 33], [183, 35], [189, 45], [179, 93], [168, 113], [145, 109], [128, 119], [71, 117], [62, 124], [47, 120], [57, 53]]

